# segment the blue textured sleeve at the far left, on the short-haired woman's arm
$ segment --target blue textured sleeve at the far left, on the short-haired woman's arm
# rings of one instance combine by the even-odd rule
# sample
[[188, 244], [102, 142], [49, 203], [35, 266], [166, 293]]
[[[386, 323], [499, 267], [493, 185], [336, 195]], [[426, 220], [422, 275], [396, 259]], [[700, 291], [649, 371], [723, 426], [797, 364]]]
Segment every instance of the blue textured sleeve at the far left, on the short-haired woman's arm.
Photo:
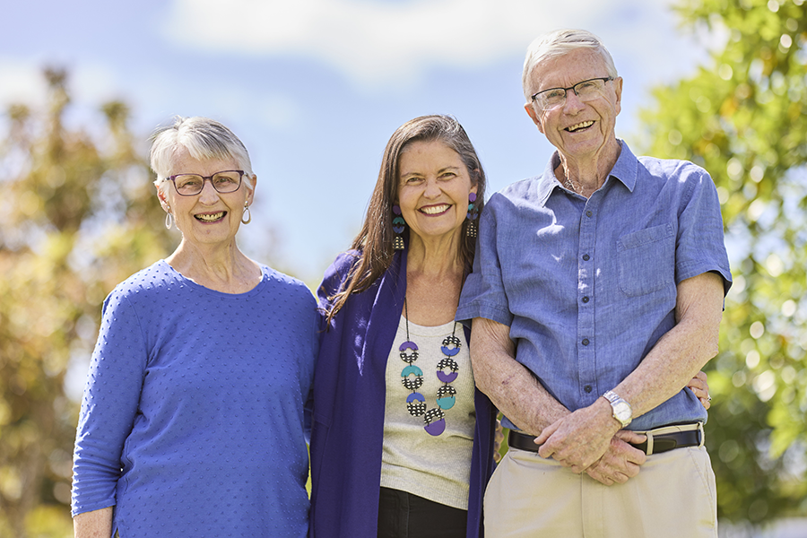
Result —
[[148, 351], [142, 326], [125, 293], [104, 301], [76, 430], [73, 516], [116, 504], [121, 457], [143, 389]]

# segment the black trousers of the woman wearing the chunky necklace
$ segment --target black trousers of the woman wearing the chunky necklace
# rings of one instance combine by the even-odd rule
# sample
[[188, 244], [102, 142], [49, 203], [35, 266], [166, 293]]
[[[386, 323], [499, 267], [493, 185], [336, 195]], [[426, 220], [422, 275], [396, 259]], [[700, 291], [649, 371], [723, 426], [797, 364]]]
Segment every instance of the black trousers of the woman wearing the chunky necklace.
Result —
[[378, 538], [465, 538], [468, 511], [381, 488]]

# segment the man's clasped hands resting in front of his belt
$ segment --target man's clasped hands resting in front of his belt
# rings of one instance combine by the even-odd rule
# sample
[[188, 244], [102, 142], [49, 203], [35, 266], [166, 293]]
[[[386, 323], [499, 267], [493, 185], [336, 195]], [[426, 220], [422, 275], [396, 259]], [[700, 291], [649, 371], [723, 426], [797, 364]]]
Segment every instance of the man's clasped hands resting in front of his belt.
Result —
[[573, 473], [586, 473], [606, 486], [628, 482], [636, 476], [646, 455], [629, 443], [642, 443], [646, 436], [620, 430], [611, 405], [602, 399], [571, 412], [547, 426], [535, 444], [538, 454], [553, 458]]

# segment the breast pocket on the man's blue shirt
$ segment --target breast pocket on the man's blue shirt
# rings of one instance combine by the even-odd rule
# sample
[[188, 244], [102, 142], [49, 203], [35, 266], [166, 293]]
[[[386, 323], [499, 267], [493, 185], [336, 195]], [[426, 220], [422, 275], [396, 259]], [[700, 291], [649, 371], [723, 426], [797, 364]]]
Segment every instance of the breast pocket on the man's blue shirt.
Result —
[[675, 230], [662, 224], [623, 235], [617, 241], [620, 290], [646, 295], [675, 283]]

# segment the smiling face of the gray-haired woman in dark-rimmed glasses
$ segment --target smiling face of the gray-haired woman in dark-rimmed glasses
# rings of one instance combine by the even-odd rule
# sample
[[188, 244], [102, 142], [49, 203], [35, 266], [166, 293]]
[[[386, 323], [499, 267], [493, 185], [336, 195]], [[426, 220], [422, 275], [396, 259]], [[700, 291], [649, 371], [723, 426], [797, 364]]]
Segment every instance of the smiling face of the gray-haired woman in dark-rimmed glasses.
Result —
[[[182, 148], [171, 160], [171, 174], [199, 174], [212, 176], [221, 170], [239, 169], [235, 159], [206, 159], [198, 161]], [[256, 178], [253, 176], [253, 185]], [[232, 193], [221, 194], [210, 181], [204, 182], [202, 192], [194, 196], [179, 195], [173, 185], [160, 193], [163, 209], [170, 206], [170, 213], [182, 232], [182, 240], [191, 245], [227, 246], [239, 230], [244, 204], [252, 204], [253, 191], [247, 187], [247, 179]]]

